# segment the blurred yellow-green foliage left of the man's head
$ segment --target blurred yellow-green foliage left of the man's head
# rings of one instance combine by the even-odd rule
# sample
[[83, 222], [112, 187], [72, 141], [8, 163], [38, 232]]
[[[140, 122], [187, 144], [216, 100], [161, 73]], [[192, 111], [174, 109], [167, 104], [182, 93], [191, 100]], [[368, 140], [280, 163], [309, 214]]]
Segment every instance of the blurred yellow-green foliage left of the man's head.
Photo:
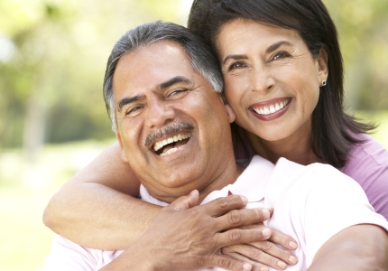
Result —
[[140, 23], [184, 23], [184, 2], [0, 0], [0, 148], [112, 137], [102, 80], [115, 41]]

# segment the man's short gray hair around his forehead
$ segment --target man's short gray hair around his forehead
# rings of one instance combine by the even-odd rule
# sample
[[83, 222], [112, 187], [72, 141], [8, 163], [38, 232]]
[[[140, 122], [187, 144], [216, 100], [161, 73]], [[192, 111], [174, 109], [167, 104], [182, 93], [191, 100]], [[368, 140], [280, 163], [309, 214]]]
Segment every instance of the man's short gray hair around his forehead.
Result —
[[104, 79], [104, 99], [112, 129], [117, 132], [115, 99], [113, 95], [113, 75], [117, 62], [122, 56], [153, 42], [170, 40], [178, 42], [187, 52], [191, 66], [199, 72], [217, 92], [222, 92], [224, 82], [219, 71], [217, 59], [199, 36], [189, 32], [186, 27], [175, 23], [144, 23], [125, 33], [116, 43], [106, 64]]

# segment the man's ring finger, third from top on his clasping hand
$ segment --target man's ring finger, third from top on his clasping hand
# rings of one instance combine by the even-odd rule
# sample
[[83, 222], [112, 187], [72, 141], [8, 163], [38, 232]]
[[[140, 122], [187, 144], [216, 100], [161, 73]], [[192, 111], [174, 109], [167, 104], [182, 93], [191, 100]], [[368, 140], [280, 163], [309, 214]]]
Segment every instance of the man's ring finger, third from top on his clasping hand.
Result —
[[217, 232], [213, 236], [213, 242], [217, 248], [223, 248], [236, 244], [252, 243], [257, 240], [265, 240], [271, 235], [271, 229], [256, 228], [256, 229], [228, 229], [223, 232]]

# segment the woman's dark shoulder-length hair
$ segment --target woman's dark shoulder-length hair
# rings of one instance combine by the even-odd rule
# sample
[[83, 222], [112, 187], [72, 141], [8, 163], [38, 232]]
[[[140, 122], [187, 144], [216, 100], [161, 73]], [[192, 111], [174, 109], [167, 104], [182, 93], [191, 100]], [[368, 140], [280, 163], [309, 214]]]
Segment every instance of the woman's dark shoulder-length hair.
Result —
[[217, 53], [221, 27], [237, 18], [291, 29], [300, 34], [311, 55], [328, 52], [328, 82], [320, 88], [312, 113], [312, 150], [324, 163], [343, 167], [351, 145], [363, 143], [356, 134], [374, 129], [344, 112], [344, 70], [337, 29], [320, 0], [194, 0], [189, 30], [198, 33]]

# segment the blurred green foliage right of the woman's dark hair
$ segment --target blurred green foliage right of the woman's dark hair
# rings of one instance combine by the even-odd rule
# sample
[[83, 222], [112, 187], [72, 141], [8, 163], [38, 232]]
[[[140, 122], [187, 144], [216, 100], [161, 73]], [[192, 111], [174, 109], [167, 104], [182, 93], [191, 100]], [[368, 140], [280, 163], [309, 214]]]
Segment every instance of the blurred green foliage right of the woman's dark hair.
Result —
[[323, 0], [339, 33], [347, 105], [388, 108], [388, 1]]

